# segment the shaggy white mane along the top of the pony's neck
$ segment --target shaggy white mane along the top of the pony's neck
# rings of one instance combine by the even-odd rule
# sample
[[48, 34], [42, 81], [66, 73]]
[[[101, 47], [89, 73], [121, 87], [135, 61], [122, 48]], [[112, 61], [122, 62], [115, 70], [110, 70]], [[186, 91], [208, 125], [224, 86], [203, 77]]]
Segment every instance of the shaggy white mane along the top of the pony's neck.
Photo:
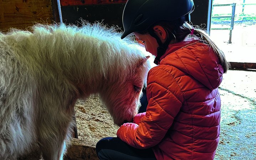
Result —
[[[41, 71], [41, 67], [51, 63], [52, 68], [49, 69], [63, 74], [72, 73], [72, 77], [74, 74], [87, 73], [86, 77], [75, 76], [80, 78], [77, 81], [91, 80], [90, 76], [95, 74], [106, 78], [113, 75], [110, 73], [113, 71], [127, 72], [116, 75], [127, 76], [134, 69], [134, 61], [149, 55], [138, 43], [129, 38], [121, 40], [120, 37], [121, 33], [116, 32], [114, 27], [107, 28], [100, 23], [84, 23], [82, 27], [39, 24], [32, 27], [32, 32], [12, 30], [6, 35], [0, 34], [0, 40], [13, 44], [17, 56], [22, 61], [27, 60], [24, 63], [34, 72]], [[41, 65], [35, 67], [37, 63]]]

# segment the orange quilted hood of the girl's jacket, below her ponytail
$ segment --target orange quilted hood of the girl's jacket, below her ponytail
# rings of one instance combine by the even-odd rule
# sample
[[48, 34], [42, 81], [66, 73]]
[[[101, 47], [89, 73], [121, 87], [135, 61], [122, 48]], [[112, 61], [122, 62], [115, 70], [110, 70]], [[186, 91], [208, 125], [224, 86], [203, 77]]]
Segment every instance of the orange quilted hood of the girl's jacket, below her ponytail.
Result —
[[168, 64], [193, 76], [207, 88], [219, 87], [224, 69], [214, 51], [198, 40], [183, 41], [168, 46], [160, 65]]

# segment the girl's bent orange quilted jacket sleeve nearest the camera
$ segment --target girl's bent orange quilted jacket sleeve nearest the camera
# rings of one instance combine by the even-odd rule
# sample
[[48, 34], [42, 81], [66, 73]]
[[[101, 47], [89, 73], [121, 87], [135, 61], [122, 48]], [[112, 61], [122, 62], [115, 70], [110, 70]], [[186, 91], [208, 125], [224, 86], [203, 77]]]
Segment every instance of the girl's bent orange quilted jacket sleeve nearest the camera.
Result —
[[139, 124], [125, 123], [117, 131], [117, 137], [139, 149], [155, 146], [164, 138], [183, 102], [179, 85], [163, 67], [151, 69], [147, 83], [145, 116]]

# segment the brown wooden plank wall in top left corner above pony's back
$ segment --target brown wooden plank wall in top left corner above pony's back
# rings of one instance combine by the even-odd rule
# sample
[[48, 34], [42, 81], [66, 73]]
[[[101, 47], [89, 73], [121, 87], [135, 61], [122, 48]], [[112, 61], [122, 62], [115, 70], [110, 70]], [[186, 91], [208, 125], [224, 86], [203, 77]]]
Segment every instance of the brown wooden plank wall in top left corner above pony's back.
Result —
[[58, 0], [1, 0], [0, 31], [26, 29], [36, 23], [60, 22]]

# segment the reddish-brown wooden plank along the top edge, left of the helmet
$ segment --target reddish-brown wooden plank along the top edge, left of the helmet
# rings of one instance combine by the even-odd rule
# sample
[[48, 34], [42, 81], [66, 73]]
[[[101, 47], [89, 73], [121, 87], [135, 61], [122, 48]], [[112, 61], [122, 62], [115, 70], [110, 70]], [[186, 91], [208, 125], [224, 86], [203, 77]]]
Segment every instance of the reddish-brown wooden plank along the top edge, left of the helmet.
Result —
[[60, 0], [61, 6], [126, 3], [127, 0]]

